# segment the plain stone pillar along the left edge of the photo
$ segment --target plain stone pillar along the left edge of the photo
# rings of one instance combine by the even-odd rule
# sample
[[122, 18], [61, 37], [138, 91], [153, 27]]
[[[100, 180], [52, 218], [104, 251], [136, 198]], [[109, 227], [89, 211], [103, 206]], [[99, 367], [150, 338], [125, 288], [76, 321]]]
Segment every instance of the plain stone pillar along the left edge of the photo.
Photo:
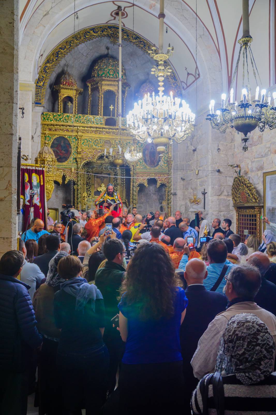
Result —
[[0, 0], [0, 256], [17, 244], [18, 1]]

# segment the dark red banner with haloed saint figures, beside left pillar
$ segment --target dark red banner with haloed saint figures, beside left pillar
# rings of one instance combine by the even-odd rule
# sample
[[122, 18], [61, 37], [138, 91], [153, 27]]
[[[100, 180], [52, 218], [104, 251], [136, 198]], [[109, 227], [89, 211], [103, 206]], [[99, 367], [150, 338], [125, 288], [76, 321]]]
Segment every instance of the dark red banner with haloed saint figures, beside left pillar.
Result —
[[[31, 191], [30, 191], [31, 190]], [[34, 192], [32, 192], [34, 190]], [[32, 193], [35, 193], [32, 195]], [[24, 232], [33, 218], [43, 220], [47, 227], [47, 207], [45, 192], [45, 173], [42, 168], [21, 167], [20, 216]]]

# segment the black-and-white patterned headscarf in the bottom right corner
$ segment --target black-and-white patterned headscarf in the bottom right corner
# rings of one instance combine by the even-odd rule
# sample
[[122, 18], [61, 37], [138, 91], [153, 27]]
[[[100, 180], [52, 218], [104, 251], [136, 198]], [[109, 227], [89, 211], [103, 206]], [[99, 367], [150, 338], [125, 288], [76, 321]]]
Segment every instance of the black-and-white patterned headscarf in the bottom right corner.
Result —
[[254, 314], [230, 318], [221, 337], [216, 371], [235, 374], [244, 385], [258, 383], [274, 369], [275, 343], [268, 327]]

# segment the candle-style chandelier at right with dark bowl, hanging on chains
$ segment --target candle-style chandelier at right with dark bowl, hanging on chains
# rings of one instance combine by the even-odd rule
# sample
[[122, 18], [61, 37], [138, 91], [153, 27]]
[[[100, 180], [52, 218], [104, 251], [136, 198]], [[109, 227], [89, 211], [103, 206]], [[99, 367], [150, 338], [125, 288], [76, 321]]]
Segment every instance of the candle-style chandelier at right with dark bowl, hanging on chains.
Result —
[[[225, 133], [228, 127], [234, 127], [238, 134], [243, 133], [242, 142], [243, 151], [248, 150], [247, 141], [249, 138], [247, 134], [253, 131], [255, 128], [259, 128], [260, 132], [264, 132], [265, 128], [274, 129], [276, 128], [276, 92], [273, 93], [273, 104], [271, 105], [271, 95], [268, 93], [266, 95], [266, 90], [261, 90], [261, 95], [259, 96], [259, 85], [256, 77], [256, 73], [259, 77], [260, 85], [262, 85], [259, 72], [254, 60], [252, 49], [250, 43], [252, 42], [252, 37], [249, 32], [249, 0], [242, 0], [242, 29], [243, 35], [242, 38], [238, 40], [240, 44], [240, 51], [238, 55], [238, 60], [235, 66], [235, 71], [233, 73], [233, 78], [231, 81], [228, 98], [226, 99], [226, 94], [221, 95], [221, 107], [214, 110], [215, 101], [211, 100], [209, 106], [209, 114], [206, 117], [206, 120], [211, 122], [211, 127], [217, 129], [221, 133]], [[240, 62], [240, 55], [242, 52], [242, 94], [241, 100], [238, 104], [237, 101], [234, 102], [234, 81], [237, 75], [238, 66]], [[256, 81], [256, 92], [255, 99], [252, 100], [251, 86], [249, 81], [249, 68], [248, 68], [248, 59], [250, 59], [252, 72]], [[245, 85], [245, 67], [247, 69], [247, 85]], [[259, 99], [260, 98], [260, 99]], [[254, 104], [254, 107], [252, 106]]]

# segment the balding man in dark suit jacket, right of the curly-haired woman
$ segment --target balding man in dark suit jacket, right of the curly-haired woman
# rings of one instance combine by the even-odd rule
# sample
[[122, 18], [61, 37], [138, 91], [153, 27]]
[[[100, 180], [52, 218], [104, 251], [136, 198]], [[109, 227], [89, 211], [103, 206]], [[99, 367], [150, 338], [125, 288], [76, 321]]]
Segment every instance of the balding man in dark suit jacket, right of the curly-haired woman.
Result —
[[192, 391], [197, 386], [197, 379], [194, 378], [190, 361], [197, 349], [197, 343], [209, 323], [227, 306], [225, 295], [206, 290], [203, 285], [206, 276], [204, 261], [197, 258], [190, 259], [184, 272], [184, 278], [187, 281], [185, 294], [189, 303], [185, 319], [180, 327], [180, 345], [183, 356], [183, 373], [185, 374], [184, 403], [187, 413], [190, 408]]

